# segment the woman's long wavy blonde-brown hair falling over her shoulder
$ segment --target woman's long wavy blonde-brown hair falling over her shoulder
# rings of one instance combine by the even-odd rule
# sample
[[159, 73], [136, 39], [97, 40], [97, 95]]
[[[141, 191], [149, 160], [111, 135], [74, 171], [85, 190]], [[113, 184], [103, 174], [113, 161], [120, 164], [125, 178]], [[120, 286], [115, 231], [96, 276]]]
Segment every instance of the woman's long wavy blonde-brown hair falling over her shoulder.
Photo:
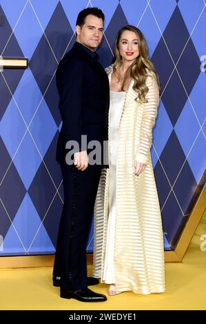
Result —
[[[160, 88], [160, 83], [158, 79], [158, 74], [152, 64], [152, 61], [148, 57], [148, 48], [147, 43], [145, 41], [145, 37], [141, 30], [136, 28], [135, 26], [127, 25], [119, 30], [116, 40], [114, 43], [114, 59], [113, 59], [113, 72], [118, 78], [121, 80], [121, 74], [116, 70], [117, 67], [121, 65], [122, 57], [119, 52], [119, 41], [121, 39], [121, 35], [125, 30], [129, 30], [130, 32], [134, 32], [138, 39], [138, 50], [139, 55], [136, 57], [134, 63], [128, 68], [127, 72], [125, 73], [125, 77], [123, 78], [123, 83], [121, 85], [121, 91], [124, 91], [125, 82], [128, 77], [132, 77], [134, 79], [133, 89], [138, 93], [138, 97], [136, 98], [137, 101], [141, 101], [142, 103], [147, 102], [146, 94], [149, 91], [145, 81], [149, 76], [148, 72], [153, 72], [153, 76], [156, 77], [156, 81], [158, 83], [158, 87]], [[150, 74], [151, 75], [151, 74]]]

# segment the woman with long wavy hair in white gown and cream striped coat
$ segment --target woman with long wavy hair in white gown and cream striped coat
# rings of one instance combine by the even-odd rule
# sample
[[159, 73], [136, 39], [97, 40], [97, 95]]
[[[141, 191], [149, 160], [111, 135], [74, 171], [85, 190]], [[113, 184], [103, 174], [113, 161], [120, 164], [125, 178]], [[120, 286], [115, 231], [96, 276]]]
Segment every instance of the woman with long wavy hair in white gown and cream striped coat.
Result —
[[102, 172], [96, 198], [93, 275], [110, 284], [110, 295], [164, 292], [163, 230], [150, 154], [159, 81], [138, 28], [121, 28], [106, 72], [110, 168]]

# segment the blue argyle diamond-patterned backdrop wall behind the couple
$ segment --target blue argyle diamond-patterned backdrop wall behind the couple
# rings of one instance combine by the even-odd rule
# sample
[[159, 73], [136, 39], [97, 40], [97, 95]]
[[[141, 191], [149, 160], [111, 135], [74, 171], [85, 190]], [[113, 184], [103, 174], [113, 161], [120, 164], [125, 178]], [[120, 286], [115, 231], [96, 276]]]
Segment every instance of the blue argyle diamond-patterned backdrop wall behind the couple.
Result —
[[205, 0], [0, 0], [0, 55], [29, 60], [26, 70], [0, 73], [1, 256], [55, 252], [63, 207], [55, 73], [87, 6], [105, 12], [104, 67], [116, 32], [130, 23], [145, 34], [161, 80], [151, 153], [165, 250], [174, 249], [205, 180]]

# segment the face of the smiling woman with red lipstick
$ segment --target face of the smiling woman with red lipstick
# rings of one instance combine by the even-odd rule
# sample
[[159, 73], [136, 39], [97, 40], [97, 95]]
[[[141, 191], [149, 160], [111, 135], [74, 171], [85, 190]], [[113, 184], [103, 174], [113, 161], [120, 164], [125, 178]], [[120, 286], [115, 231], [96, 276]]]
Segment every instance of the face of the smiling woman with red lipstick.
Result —
[[138, 38], [135, 32], [125, 30], [119, 40], [119, 52], [121, 57], [127, 61], [134, 61], [138, 57]]

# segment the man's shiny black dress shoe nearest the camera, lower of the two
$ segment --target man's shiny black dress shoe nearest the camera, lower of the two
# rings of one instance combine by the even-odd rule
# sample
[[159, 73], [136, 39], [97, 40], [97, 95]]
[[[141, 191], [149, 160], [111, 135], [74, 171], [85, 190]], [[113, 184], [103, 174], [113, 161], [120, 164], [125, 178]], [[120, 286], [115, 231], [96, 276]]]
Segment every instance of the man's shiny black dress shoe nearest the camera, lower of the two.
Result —
[[107, 301], [107, 297], [103, 294], [97, 294], [96, 292], [92, 292], [89, 288], [85, 288], [83, 290], [60, 290], [61, 298], [74, 298], [77, 301], [85, 301], [89, 303]]

